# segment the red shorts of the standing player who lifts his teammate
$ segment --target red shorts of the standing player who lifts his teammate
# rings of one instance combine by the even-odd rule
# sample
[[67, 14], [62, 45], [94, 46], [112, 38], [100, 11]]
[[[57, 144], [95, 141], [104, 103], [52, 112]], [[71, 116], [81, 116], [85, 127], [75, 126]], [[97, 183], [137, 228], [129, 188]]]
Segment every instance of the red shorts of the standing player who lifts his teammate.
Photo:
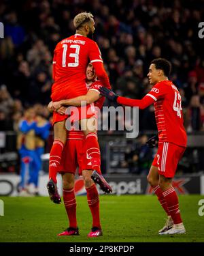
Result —
[[86, 158], [84, 148], [84, 134], [80, 132], [68, 133], [67, 143], [65, 144], [62, 158], [60, 173], [73, 173], [78, 169], [78, 174], [82, 175], [83, 170], [94, 170], [91, 162]]

